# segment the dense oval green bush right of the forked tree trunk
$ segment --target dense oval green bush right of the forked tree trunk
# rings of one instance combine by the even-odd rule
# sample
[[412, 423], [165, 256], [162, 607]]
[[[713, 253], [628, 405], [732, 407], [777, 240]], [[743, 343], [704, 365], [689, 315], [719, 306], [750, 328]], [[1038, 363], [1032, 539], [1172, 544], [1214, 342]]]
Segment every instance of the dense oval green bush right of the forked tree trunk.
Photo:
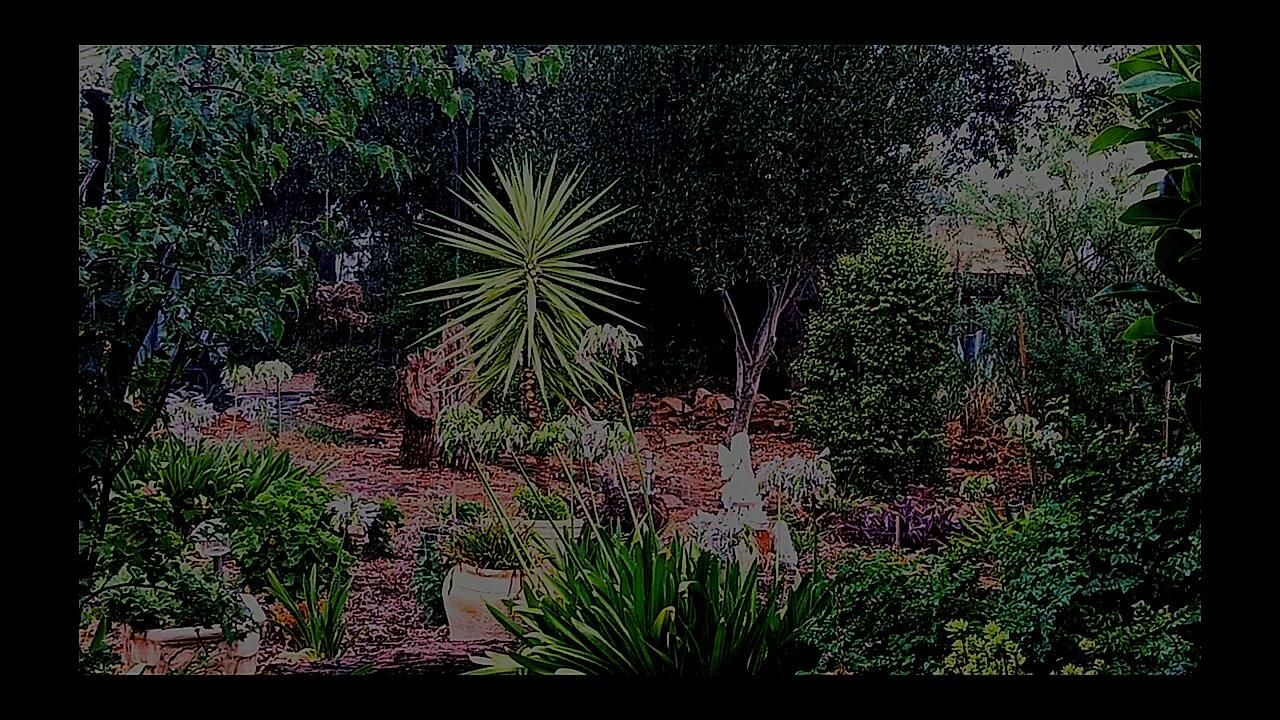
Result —
[[858, 492], [941, 478], [954, 296], [942, 250], [909, 233], [873, 236], [823, 282], [799, 363], [796, 427], [831, 448], [837, 477]]

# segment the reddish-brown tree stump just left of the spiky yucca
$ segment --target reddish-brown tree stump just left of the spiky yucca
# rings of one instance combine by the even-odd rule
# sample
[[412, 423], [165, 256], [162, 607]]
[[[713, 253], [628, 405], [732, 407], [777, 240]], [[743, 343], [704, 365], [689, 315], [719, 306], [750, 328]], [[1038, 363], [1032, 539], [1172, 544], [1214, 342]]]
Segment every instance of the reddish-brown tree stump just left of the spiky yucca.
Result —
[[440, 413], [457, 402], [472, 402], [475, 368], [470, 363], [466, 333], [460, 325], [444, 331], [444, 340], [410, 355], [401, 370], [397, 396], [404, 419], [401, 465], [425, 468], [440, 456], [435, 427]]

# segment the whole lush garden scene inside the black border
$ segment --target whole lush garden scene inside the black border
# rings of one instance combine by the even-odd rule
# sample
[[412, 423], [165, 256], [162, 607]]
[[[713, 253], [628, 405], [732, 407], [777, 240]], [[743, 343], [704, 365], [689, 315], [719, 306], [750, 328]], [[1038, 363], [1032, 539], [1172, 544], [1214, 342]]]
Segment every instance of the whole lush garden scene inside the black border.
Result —
[[82, 674], [1199, 670], [1201, 49], [82, 46]]

